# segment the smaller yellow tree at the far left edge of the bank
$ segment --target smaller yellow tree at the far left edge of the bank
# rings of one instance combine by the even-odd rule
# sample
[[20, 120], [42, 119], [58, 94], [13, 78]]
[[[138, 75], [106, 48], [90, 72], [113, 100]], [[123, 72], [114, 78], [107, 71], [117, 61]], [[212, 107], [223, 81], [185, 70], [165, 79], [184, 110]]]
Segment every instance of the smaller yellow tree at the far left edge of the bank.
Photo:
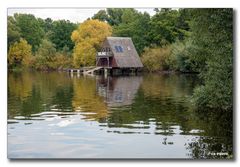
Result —
[[10, 66], [28, 66], [32, 58], [32, 46], [25, 39], [20, 39], [10, 46], [8, 64]]

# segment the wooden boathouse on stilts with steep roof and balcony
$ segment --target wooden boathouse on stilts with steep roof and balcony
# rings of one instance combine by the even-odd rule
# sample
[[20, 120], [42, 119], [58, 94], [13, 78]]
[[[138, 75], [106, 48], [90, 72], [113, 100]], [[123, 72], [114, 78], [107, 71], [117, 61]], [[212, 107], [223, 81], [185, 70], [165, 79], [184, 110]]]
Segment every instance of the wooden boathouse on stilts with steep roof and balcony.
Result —
[[107, 37], [96, 54], [96, 68], [113, 74], [139, 72], [143, 64], [129, 37]]

